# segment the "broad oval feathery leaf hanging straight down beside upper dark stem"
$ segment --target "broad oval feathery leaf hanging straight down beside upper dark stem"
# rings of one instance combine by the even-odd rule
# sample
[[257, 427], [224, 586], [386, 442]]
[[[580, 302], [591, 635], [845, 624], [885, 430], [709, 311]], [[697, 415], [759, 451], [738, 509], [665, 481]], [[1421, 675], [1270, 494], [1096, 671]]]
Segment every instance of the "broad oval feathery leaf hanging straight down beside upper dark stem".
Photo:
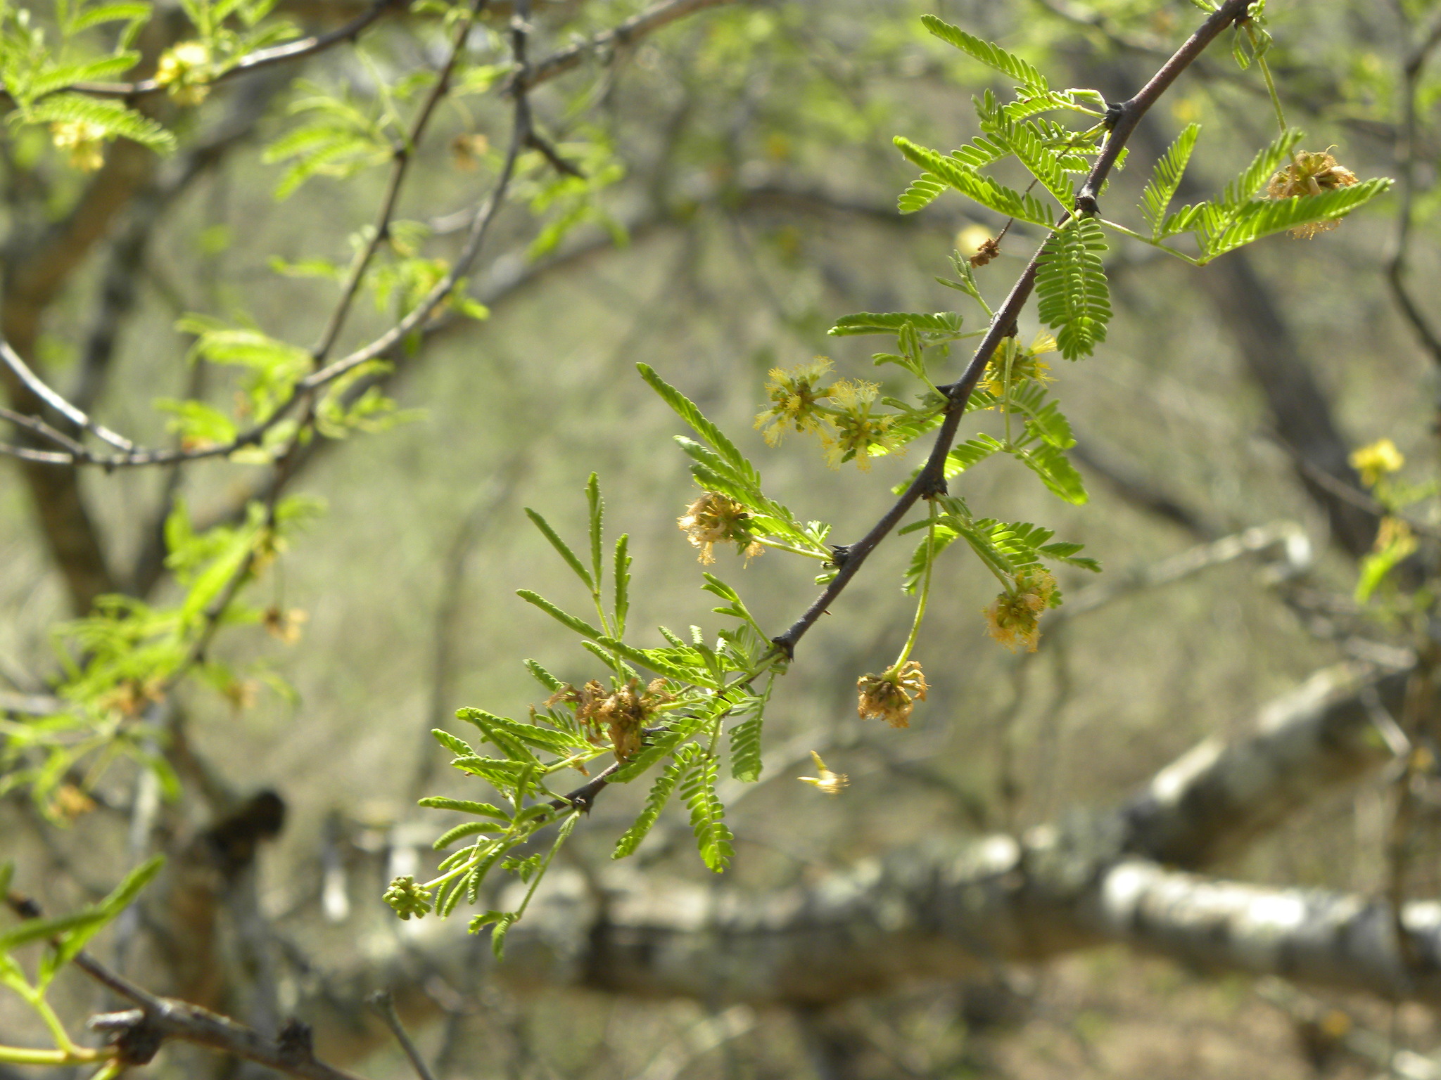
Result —
[[1098, 222], [1072, 217], [1046, 240], [1036, 271], [1036, 314], [1056, 330], [1066, 360], [1089, 356], [1105, 341], [1111, 292], [1101, 266], [1107, 249]]

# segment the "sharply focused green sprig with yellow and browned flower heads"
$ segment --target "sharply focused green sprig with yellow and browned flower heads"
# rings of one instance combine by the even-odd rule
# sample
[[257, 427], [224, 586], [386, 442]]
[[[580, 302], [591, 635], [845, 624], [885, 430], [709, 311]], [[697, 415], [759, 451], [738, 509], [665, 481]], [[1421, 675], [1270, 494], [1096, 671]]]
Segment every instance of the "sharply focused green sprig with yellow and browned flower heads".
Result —
[[[1223, 7], [1206, 7], [1212, 17], [1182, 48], [1172, 66], [1189, 63], [1246, 9], [1238, 0]], [[585, 687], [565, 685], [530, 664], [532, 672], [539, 672], [542, 685], [550, 691], [545, 706], [532, 710], [532, 726], [563, 733], [572, 740], [563, 747], [553, 747], [549, 759], [532, 752], [535, 739], [522, 740], [519, 734], [500, 737], [499, 729], [486, 729], [486, 742], [501, 752], [491, 757], [480, 757], [452, 736], [437, 733], [460, 753], [457, 768], [484, 776], [514, 808], [494, 818], [487, 805], [480, 812], [481, 821], [447, 834], [483, 838], [467, 852], [442, 863], [440, 878], [419, 887], [427, 894], [429, 888], [450, 888], [437, 900], [438, 912], [445, 913], [455, 904], [461, 883], [468, 894], [476, 894], [480, 880], [503, 852], [529, 842], [540, 828], [556, 819], [563, 821], [555, 841], [559, 844], [574, 828], [575, 809], [588, 806], [602, 785], [630, 782], [651, 769], [657, 769], [659, 775], [635, 822], [617, 842], [615, 857], [634, 852], [666, 804], [680, 792], [690, 811], [702, 860], [712, 870], [723, 868], [731, 857], [731, 834], [715, 793], [720, 734], [729, 724], [732, 775], [755, 780], [764, 768], [762, 716], [774, 680], [784, 674], [798, 638], [892, 528], [899, 527], [902, 534], [925, 533], [902, 579], [902, 588], [916, 596], [916, 616], [896, 661], [882, 674], [863, 675], [857, 681], [862, 717], [905, 727], [915, 704], [925, 700], [928, 685], [911, 654], [924, 619], [934, 563], [954, 550], [957, 540], [963, 540], [961, 547], [971, 552], [1001, 585], [1001, 592], [986, 609], [991, 636], [1013, 649], [1035, 649], [1040, 618], [1062, 602], [1049, 567], [1098, 572], [1099, 564], [1081, 554], [1081, 544], [1053, 540], [1052, 530], [1043, 526], [977, 517], [964, 498], [948, 492], [947, 484], [1004, 454], [1025, 464], [1056, 497], [1074, 504], [1085, 501], [1081, 477], [1065, 458], [1075, 439], [1065, 415], [1049, 395], [1046, 384], [1052, 377], [1040, 357], [1059, 351], [1065, 360], [1078, 360], [1105, 341], [1111, 318], [1102, 261], [1108, 251], [1107, 230], [1159, 246], [1187, 262], [1205, 264], [1275, 232], [1324, 228], [1369, 202], [1389, 183], [1356, 183], [1355, 177], [1347, 181], [1349, 173], [1339, 167], [1333, 170], [1329, 156], [1323, 163], [1319, 157], [1313, 160], [1300, 154], [1300, 132], [1284, 130], [1219, 197], [1172, 212], [1170, 203], [1199, 137], [1199, 127], [1190, 125], [1156, 163], [1143, 192], [1141, 213], [1150, 228], [1148, 235], [1133, 230], [1078, 207], [1092, 207], [1110, 170], [1124, 164], [1124, 145], [1114, 134], [1117, 125], [1128, 122], [1134, 127], [1138, 112], [1160, 91], [1144, 102], [1133, 99], [1108, 108], [1095, 91], [1052, 91], [1035, 65], [994, 43], [934, 16], [922, 22], [941, 40], [1020, 85], [1007, 102], [1000, 102], [991, 91], [974, 99], [983, 134], [961, 150], [942, 154], [904, 137], [895, 140], [898, 150], [924, 170], [901, 196], [901, 210], [914, 213], [945, 189], [954, 189], [981, 209], [1006, 219], [999, 232], [1004, 233], [1012, 223], [1022, 222], [1043, 230], [1045, 239], [1022, 281], [999, 310], [983, 295], [974, 274], [978, 262], [957, 255], [958, 279], [941, 279], [974, 301], [989, 320], [981, 346], [957, 383], [938, 384], [932, 379], [932, 367], [947, 356], [954, 341], [967, 337], [961, 314], [844, 315], [836, 320], [831, 336], [895, 336], [895, 351], [878, 353], [873, 361], [893, 367], [899, 377], [911, 382], [911, 400], [880, 396], [875, 383], [831, 377], [830, 361], [820, 359], [771, 372], [767, 383], [769, 406], [757, 418], [757, 426], [765, 431], [772, 445], [790, 431], [817, 435], [833, 467], [847, 461], [865, 467], [867, 459], [896, 455], [921, 433], [940, 429], [929, 459], [912, 474], [909, 482], [896, 488], [896, 507], [860, 543], [830, 547], [826, 526], [814, 521], [801, 524], [795, 511], [767, 497], [758, 469], [733, 439], [653, 369], [641, 366], [646, 382], [699, 436], [699, 441], [679, 436], [682, 451], [692, 458], [692, 474], [703, 490], [680, 518], [680, 526], [699, 549], [702, 562], [710, 562], [712, 549], [726, 543], [733, 543], [746, 556], [772, 547], [818, 557], [826, 566], [817, 582], [826, 585], [826, 592], [790, 631], [768, 639], [741, 596], [708, 573], [705, 588], [728, 600], [725, 608], [713, 611], [735, 619], [735, 626], [722, 631], [713, 647], [705, 644], [699, 628], [692, 628], [689, 642], [661, 628], [670, 648], [637, 648], [624, 642], [623, 632], [615, 629], [621, 621], [618, 606], [607, 612], [601, 599], [601, 511], [594, 475], [588, 485], [589, 564], [563, 543], [545, 518], [527, 511], [591, 593], [598, 625], [535, 593], [523, 590], [520, 595], [576, 634], [582, 647], [607, 668], [605, 680], [592, 680]], [[1254, 35], [1248, 40], [1252, 55], [1262, 59], [1265, 42]], [[1048, 112], [1078, 114], [1084, 122], [1066, 127], [1043, 115]], [[1014, 190], [984, 171], [1007, 160], [1019, 163], [1033, 177], [1030, 187]], [[1287, 173], [1287, 168], [1294, 171]], [[1081, 189], [1084, 196], [1078, 194], [1071, 180], [1075, 173], [1087, 174]], [[1330, 190], [1282, 190], [1278, 180], [1282, 174], [1291, 179], [1291, 187], [1310, 183], [1316, 189], [1324, 181]], [[1032, 194], [1038, 186], [1053, 203]], [[1195, 240], [1195, 255], [1166, 243], [1185, 233]], [[1014, 323], [1032, 291], [1039, 301], [1038, 315], [1055, 330], [1055, 338], [1040, 336], [1030, 347], [1023, 347]], [[955, 442], [961, 416], [987, 412], [999, 420], [1000, 431], [978, 432]], [[925, 517], [902, 524], [905, 514], [921, 501], [927, 504]], [[644, 688], [643, 672], [654, 675]], [[762, 674], [767, 688], [758, 694], [752, 684]], [[464, 710], [463, 719], [468, 719]], [[506, 721], [507, 732], [512, 724], [514, 721]], [[614, 753], [615, 763], [578, 789], [579, 793], [555, 795], [546, 786], [556, 769], [582, 765], [607, 750]], [[820, 785], [824, 779], [816, 782]], [[839, 783], [830, 783], [827, 789], [836, 792], [839, 788]], [[447, 806], [457, 808], [454, 804]], [[532, 855], [519, 861], [512, 857], [503, 864], [529, 884], [526, 901], [535, 890], [533, 876], [553, 857], [553, 851], [552, 845], [550, 854], [540, 863]], [[476, 922], [477, 927], [497, 924], [497, 950], [504, 930], [520, 916], [526, 901], [509, 912], [491, 910]]]

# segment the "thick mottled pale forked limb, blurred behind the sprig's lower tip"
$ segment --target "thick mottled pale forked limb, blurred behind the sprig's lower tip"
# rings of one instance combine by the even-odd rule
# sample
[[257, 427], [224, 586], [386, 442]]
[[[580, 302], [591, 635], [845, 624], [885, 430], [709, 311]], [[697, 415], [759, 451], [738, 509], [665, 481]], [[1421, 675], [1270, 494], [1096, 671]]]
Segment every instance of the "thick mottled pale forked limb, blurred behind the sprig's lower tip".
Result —
[[[1213, 971], [1441, 1002], [1441, 976], [1428, 973], [1441, 971], [1441, 906], [1406, 909], [1432, 965], [1406, 971], [1380, 901], [1195, 873], [1389, 760], [1376, 710], [1401, 707], [1406, 678], [1321, 671], [1262, 708], [1248, 736], [1203, 742], [1111, 811], [899, 851], [810, 887], [742, 894], [625, 864], [555, 868], [488, 973], [520, 991], [814, 1008], [1121, 942]], [[465, 985], [488, 963], [464, 940], [460, 920], [408, 924], [326, 979], [300, 1007], [317, 1053], [346, 1061], [383, 1043], [379, 1024], [356, 1025], [376, 985], [396, 989], [406, 1022], [438, 1015], [425, 981]]]

